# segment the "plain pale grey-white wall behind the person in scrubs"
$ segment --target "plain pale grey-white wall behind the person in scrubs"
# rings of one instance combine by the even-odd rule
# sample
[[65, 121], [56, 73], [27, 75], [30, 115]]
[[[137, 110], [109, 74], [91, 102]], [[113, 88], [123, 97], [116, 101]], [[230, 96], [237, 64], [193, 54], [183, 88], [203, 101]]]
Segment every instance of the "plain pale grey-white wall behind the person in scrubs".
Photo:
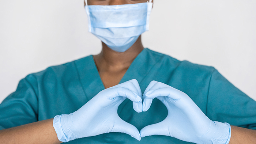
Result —
[[[256, 0], [155, 0], [142, 40], [215, 67], [256, 99]], [[29, 73], [100, 51], [83, 0], [0, 0], [0, 102]]]

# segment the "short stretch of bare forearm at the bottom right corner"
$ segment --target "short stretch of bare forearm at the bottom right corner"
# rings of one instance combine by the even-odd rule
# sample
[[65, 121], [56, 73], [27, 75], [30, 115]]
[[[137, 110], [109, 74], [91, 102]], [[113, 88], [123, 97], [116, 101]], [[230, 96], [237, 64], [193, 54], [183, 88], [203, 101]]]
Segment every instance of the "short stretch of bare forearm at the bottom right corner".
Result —
[[229, 144], [255, 144], [256, 130], [231, 126], [231, 138]]

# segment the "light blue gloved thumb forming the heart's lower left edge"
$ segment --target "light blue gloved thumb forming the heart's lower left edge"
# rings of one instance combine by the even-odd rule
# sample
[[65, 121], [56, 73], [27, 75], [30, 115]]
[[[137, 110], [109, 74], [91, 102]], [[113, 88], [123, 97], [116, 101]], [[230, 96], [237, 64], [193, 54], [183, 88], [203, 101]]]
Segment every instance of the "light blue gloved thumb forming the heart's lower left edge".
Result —
[[115, 121], [111, 132], [126, 133], [129, 134], [131, 137], [140, 140], [139, 130], [135, 126], [129, 124], [128, 122], [125, 122], [121, 118], [118, 118], [118, 120]]

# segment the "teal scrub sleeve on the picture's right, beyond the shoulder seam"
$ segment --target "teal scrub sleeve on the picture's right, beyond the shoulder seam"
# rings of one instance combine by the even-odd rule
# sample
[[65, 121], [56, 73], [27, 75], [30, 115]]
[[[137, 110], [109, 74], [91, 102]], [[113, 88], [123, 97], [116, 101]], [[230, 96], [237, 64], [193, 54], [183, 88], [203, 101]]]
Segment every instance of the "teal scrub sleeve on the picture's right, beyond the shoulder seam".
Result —
[[210, 120], [256, 130], [256, 102], [216, 69], [208, 91], [206, 115]]

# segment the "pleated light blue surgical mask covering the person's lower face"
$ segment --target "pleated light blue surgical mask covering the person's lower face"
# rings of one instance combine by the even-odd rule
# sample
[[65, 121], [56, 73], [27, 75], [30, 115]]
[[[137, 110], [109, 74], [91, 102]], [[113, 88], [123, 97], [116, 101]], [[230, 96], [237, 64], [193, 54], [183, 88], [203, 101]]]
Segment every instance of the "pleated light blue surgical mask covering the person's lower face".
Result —
[[89, 31], [116, 52], [125, 52], [148, 30], [153, 3], [87, 5]]

